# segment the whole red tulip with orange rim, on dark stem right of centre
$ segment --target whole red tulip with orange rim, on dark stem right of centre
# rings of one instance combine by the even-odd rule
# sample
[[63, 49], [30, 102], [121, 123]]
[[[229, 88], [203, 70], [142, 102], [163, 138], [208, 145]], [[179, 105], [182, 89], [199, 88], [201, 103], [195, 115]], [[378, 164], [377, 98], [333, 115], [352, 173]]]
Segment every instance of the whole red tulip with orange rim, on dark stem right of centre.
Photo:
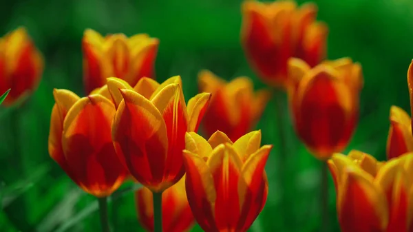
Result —
[[363, 77], [359, 63], [349, 58], [325, 61], [310, 69], [300, 59], [288, 61], [288, 89], [295, 131], [319, 159], [342, 151], [359, 114]]

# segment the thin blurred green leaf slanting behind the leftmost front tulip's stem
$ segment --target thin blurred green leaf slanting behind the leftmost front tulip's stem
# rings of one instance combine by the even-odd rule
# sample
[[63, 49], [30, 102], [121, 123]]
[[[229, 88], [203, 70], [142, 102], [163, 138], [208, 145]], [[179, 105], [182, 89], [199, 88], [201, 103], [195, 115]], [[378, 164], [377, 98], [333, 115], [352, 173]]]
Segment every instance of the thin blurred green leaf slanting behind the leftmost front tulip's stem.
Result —
[[[124, 189], [119, 189], [118, 191], [113, 193], [112, 196], [107, 198], [107, 201], [112, 202], [113, 200], [116, 200], [127, 195], [127, 193], [137, 191], [141, 187], [142, 184], [133, 184], [129, 187], [125, 187]], [[72, 226], [75, 226], [76, 224], [87, 218], [87, 216], [98, 211], [98, 208], [98, 200], [95, 200], [94, 202], [92, 202], [92, 204], [89, 204], [85, 209], [78, 212], [76, 215], [73, 215], [72, 218], [70, 218], [70, 220], [67, 220], [65, 223], [61, 224], [61, 226], [59, 226], [59, 228], [56, 229], [56, 232], [68, 231], [70, 228], [72, 228]]]

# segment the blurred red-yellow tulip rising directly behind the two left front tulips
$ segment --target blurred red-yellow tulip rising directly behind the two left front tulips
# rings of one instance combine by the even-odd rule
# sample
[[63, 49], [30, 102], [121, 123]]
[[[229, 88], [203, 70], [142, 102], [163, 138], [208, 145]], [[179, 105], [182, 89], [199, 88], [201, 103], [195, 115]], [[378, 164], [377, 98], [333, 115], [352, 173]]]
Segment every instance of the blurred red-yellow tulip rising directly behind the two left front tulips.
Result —
[[106, 78], [117, 76], [136, 85], [143, 76], [154, 78], [153, 65], [159, 41], [147, 34], [127, 38], [125, 34], [101, 36], [87, 29], [83, 35], [83, 78], [86, 92], [105, 85]]

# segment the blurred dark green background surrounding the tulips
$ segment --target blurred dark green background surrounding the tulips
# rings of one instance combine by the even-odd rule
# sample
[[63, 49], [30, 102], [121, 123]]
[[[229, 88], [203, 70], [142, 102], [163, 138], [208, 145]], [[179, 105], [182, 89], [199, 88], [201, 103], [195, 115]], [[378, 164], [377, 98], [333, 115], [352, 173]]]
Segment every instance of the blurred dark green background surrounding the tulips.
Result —
[[[301, 2], [301, 1], [300, 1]], [[328, 58], [350, 56], [363, 66], [365, 86], [357, 131], [348, 147], [385, 159], [390, 105], [409, 110], [406, 72], [413, 58], [413, 3], [409, 0], [319, 0], [318, 18], [330, 28]], [[53, 88], [83, 95], [81, 38], [85, 28], [102, 34], [145, 32], [160, 39], [158, 81], [180, 74], [186, 98], [198, 92], [196, 76], [209, 69], [231, 79], [247, 75], [265, 87], [246, 63], [240, 47], [237, 0], [173, 1], [2, 1], [0, 34], [28, 28], [45, 56], [43, 80], [29, 101], [0, 109], [0, 231], [98, 231], [97, 202], [76, 187], [47, 152]], [[268, 160], [270, 192], [251, 231], [319, 231], [321, 163], [294, 134], [288, 120], [286, 165], [279, 176], [280, 143], [275, 101], [257, 125], [262, 143], [275, 145]], [[347, 151], [346, 151], [347, 152]], [[335, 191], [329, 180], [331, 231], [339, 231]], [[116, 200], [114, 231], [139, 231], [132, 194]], [[110, 207], [110, 206], [109, 206]], [[74, 226], [64, 230], [74, 218]], [[65, 224], [66, 223], [66, 224]], [[62, 227], [63, 226], [63, 227]], [[195, 226], [193, 231], [201, 231]]]

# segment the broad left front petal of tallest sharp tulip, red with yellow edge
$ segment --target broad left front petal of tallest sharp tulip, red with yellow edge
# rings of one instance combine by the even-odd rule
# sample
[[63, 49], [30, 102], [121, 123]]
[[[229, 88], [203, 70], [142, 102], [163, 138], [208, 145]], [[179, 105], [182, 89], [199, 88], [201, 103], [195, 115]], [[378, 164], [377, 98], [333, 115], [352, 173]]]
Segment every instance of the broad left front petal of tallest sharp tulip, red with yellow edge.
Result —
[[160, 191], [168, 151], [167, 126], [159, 110], [134, 90], [121, 89], [124, 101], [116, 112], [112, 139], [116, 152], [132, 176]]

